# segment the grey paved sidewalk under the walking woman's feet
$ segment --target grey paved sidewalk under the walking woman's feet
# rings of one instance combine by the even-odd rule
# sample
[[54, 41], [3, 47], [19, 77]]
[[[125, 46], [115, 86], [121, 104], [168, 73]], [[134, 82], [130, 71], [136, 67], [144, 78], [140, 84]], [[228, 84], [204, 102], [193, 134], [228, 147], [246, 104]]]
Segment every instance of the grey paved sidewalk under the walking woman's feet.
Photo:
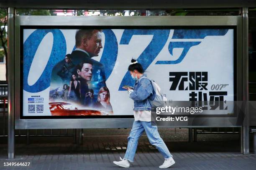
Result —
[[[239, 153], [238, 142], [167, 143], [176, 163], [172, 170], [255, 170], [256, 155]], [[121, 170], [113, 164], [124, 156], [127, 143], [17, 144], [14, 160], [0, 145], [0, 170]], [[221, 145], [221, 147], [220, 147]], [[238, 145], [239, 146], [239, 145]], [[207, 149], [208, 148], [208, 149]], [[215, 151], [214, 151], [215, 150]], [[131, 170], [156, 170], [161, 154], [149, 143], [139, 143]], [[27, 167], [4, 167], [4, 163], [29, 162]]]

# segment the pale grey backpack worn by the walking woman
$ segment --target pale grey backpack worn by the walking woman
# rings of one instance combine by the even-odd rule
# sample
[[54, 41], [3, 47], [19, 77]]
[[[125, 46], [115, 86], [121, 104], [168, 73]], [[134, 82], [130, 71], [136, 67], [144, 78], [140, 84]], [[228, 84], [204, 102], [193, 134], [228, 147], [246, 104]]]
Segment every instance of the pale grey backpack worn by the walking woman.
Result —
[[[148, 80], [150, 80], [148, 77], [145, 76], [141, 77], [141, 79], [142, 78], [147, 78]], [[150, 80], [150, 82], [153, 87], [154, 99], [148, 101], [150, 102], [152, 107], [163, 107], [164, 105], [166, 105], [168, 99], [166, 98], [164, 93], [161, 92], [161, 88], [158, 84], [156, 84], [154, 80]]]

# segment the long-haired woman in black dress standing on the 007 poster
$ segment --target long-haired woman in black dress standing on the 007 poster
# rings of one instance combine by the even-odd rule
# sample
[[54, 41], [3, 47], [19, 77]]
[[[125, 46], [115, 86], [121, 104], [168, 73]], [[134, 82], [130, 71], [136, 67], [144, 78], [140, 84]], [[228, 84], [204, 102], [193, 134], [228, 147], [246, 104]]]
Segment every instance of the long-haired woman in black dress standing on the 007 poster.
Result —
[[80, 81], [77, 80], [77, 75], [72, 74], [72, 79], [70, 80], [69, 94], [70, 100], [79, 102], [81, 97]]

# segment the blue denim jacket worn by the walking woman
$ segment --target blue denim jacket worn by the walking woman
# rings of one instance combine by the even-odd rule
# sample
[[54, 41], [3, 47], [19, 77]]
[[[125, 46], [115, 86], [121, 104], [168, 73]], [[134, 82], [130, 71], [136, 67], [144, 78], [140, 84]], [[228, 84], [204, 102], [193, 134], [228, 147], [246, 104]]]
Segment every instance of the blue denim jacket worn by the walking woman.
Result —
[[130, 97], [134, 100], [133, 110], [151, 110], [148, 100], [154, 99], [153, 87], [151, 81], [143, 74], [138, 81], [135, 82]]

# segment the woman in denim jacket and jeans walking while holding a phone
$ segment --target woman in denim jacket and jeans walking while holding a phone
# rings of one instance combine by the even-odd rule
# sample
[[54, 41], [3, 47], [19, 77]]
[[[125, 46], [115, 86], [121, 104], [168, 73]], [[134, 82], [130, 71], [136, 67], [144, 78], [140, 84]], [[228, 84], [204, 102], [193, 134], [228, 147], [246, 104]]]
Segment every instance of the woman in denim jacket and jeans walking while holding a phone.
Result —
[[156, 146], [165, 158], [163, 165], [160, 165], [159, 168], [169, 168], [175, 161], [160, 137], [157, 126], [154, 122], [151, 122], [151, 105], [149, 100], [154, 99], [151, 81], [146, 78], [146, 74], [143, 74], [144, 70], [136, 60], [131, 60], [128, 70], [133, 80], [136, 81], [133, 88], [124, 87], [128, 90], [129, 97], [134, 100], [134, 122], [128, 137], [128, 146], [124, 158], [120, 157], [120, 161], [114, 161], [113, 163], [120, 167], [129, 168], [130, 162], [133, 162], [136, 153], [138, 140], [145, 131], [151, 145]]

